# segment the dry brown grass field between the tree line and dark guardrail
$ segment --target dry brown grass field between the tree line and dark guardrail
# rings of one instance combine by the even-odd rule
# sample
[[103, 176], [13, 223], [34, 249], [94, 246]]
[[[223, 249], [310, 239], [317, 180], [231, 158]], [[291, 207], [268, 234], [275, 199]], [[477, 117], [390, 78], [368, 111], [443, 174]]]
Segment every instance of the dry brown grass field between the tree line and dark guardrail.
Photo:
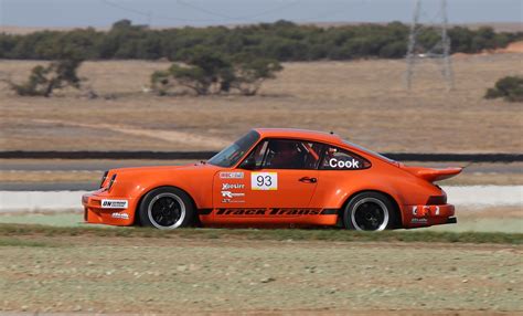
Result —
[[[100, 95], [53, 98], [0, 92], [3, 150], [220, 149], [253, 127], [334, 130], [380, 151], [521, 152], [521, 104], [484, 101], [501, 76], [523, 74], [521, 54], [452, 60], [456, 89], [437, 66], [416, 70], [409, 94], [403, 61], [288, 63], [260, 95], [158, 97], [141, 93], [164, 62], [87, 62], [81, 75]], [[39, 62], [0, 61], [13, 80]]]

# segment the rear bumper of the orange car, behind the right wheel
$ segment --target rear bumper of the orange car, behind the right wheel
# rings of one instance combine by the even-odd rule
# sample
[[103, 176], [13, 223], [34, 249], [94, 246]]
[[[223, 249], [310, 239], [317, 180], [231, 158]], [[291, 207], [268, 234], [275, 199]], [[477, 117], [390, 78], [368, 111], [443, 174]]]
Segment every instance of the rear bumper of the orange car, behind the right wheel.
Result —
[[452, 204], [405, 206], [404, 227], [423, 228], [441, 224], [455, 224], [456, 210]]

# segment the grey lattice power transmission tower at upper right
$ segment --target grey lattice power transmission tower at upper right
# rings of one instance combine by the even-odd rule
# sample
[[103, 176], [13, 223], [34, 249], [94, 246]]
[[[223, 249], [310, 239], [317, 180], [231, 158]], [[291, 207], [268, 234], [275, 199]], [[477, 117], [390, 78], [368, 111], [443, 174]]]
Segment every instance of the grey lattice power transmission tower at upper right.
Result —
[[450, 39], [447, 34], [447, 0], [440, 0], [440, 10], [435, 17], [435, 20], [439, 21], [428, 21], [428, 23], [434, 23], [435, 28], [439, 29], [441, 33], [441, 39], [433, 48], [428, 49], [424, 48], [418, 41], [418, 35], [424, 29], [423, 23], [420, 23], [421, 12], [421, 0], [416, 0], [414, 6], [413, 23], [410, 25], [410, 34], [408, 36], [406, 55], [407, 72], [405, 75], [405, 85], [407, 89], [410, 89], [414, 81], [414, 69], [418, 60], [430, 59], [435, 60], [439, 64], [447, 91], [450, 91], [453, 88], [453, 74], [449, 56]]

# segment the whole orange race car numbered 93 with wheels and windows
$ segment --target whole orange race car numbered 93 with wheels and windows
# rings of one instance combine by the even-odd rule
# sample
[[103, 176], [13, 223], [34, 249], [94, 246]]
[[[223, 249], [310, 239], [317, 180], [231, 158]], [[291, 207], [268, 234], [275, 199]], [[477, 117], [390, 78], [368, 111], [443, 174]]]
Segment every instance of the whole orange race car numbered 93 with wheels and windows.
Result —
[[407, 167], [327, 133], [253, 129], [205, 162], [114, 169], [85, 194], [85, 221], [158, 229], [456, 223], [433, 182], [461, 168]]

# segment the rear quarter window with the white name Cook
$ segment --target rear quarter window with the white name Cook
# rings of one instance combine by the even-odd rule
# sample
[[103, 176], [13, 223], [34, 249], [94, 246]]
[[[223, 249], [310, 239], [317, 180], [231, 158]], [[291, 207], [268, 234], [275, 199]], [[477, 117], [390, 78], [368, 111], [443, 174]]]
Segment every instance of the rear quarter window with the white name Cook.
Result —
[[320, 169], [322, 170], [359, 170], [371, 167], [366, 159], [350, 151], [328, 146]]

